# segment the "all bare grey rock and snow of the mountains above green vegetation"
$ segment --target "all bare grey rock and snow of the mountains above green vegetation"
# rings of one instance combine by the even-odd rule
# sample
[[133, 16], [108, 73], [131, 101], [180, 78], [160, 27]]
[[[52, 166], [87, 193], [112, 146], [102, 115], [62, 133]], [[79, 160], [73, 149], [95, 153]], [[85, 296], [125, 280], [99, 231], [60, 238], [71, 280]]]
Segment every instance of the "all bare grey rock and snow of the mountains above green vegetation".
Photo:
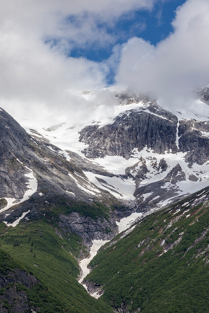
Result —
[[[31, 127], [20, 121], [25, 131], [0, 111], [2, 221], [14, 226], [34, 217], [35, 206], [24, 204], [31, 197], [45, 205], [62, 197], [88, 205], [99, 201], [115, 208], [107, 224], [92, 218], [84, 223], [76, 212], [62, 216], [91, 245], [112, 238], [121, 218], [141, 216], [208, 186], [209, 106], [201, 100], [193, 112], [170, 112], [128, 90], [109, 88], [102, 96], [92, 90], [82, 97], [94, 108], [74, 124], [71, 119], [34, 129], [32, 121]], [[107, 227], [113, 232], [106, 233]]]

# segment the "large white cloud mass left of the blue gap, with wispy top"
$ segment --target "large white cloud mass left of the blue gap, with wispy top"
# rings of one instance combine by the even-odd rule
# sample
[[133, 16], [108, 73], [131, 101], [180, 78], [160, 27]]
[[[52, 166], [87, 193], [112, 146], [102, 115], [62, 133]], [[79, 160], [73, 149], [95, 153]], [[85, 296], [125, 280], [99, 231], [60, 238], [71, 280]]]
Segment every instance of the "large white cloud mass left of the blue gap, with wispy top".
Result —
[[[71, 43], [113, 43], [114, 36], [96, 23], [114, 24], [130, 10], [150, 10], [155, 1], [2, 0], [0, 106], [16, 118], [32, 113], [35, 119], [45, 115], [53, 119], [58, 107], [60, 116], [66, 109], [78, 110], [83, 99], [75, 105], [75, 93], [105, 87], [113, 57], [106, 64], [67, 58]], [[70, 23], [69, 16], [76, 23]], [[58, 44], [51, 48], [47, 38], [57, 39]]]

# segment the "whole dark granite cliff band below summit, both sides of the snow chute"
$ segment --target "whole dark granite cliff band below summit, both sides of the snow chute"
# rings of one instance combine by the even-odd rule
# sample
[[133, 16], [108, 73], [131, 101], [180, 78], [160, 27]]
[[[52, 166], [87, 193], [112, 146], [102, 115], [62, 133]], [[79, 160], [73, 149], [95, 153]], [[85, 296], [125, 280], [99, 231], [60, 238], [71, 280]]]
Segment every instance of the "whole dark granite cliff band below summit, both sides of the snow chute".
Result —
[[177, 116], [153, 102], [125, 111], [113, 124], [86, 126], [80, 141], [88, 144], [83, 153], [93, 159], [106, 155], [129, 159], [133, 149], [147, 147], [157, 154], [187, 152], [188, 162], [203, 164], [209, 159], [208, 127], [208, 121], [178, 121]]

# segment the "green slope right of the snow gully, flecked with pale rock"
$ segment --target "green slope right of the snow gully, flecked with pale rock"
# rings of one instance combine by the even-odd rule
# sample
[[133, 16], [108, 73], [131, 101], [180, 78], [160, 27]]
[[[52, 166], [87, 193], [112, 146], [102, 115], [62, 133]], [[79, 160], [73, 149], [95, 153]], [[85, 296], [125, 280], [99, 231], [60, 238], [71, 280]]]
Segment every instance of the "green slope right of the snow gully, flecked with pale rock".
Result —
[[195, 205], [207, 193], [152, 213], [107, 243], [86, 277], [105, 290], [99, 299], [120, 312], [209, 312], [209, 207]]

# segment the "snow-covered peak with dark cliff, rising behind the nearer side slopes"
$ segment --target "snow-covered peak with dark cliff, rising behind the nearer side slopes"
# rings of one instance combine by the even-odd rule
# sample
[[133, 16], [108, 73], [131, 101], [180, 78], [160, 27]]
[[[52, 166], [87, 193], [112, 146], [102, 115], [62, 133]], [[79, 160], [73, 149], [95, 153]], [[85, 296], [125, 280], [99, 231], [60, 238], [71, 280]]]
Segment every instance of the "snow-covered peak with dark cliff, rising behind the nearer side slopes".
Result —
[[97, 90], [83, 92], [95, 103], [83, 121], [25, 129], [57, 146], [94, 188], [141, 208], [163, 207], [208, 185], [209, 106], [202, 98], [192, 111], [170, 112], [148, 95], [105, 91], [102, 100]]

